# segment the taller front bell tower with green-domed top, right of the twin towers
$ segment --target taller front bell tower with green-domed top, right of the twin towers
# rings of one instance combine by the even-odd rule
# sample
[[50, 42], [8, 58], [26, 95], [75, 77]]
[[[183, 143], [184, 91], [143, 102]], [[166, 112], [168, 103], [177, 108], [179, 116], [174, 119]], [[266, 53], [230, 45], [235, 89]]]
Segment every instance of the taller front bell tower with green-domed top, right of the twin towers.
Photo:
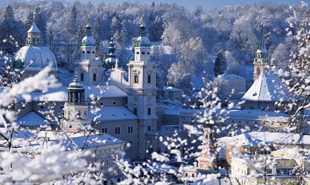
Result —
[[[143, 14], [142, 14], [143, 16]], [[156, 129], [156, 61], [150, 61], [150, 42], [145, 25], [140, 25], [140, 36], [135, 41], [135, 59], [128, 66], [128, 109], [139, 117], [139, 157], [145, 157], [144, 134]]]

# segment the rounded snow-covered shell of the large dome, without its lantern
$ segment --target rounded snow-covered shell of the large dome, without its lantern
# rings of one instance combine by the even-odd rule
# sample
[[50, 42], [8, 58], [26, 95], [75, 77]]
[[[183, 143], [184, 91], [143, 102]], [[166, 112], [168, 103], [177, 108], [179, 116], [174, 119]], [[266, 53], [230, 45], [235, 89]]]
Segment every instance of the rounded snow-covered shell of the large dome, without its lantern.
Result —
[[57, 71], [56, 58], [45, 46], [23, 46], [14, 55], [12, 65], [16, 69], [41, 71], [50, 63], [52, 70]]

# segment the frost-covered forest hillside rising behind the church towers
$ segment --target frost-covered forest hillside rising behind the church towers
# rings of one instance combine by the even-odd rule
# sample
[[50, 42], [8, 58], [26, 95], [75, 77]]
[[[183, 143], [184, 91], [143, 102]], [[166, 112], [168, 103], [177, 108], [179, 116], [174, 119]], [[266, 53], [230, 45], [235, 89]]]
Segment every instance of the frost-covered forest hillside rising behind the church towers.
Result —
[[0, 43], [0, 50], [14, 54], [24, 46], [34, 11], [44, 45], [54, 53], [58, 67], [69, 70], [74, 69], [72, 64], [80, 57], [80, 41], [84, 37], [87, 15], [90, 15], [98, 57], [107, 57], [104, 48], [113, 33], [117, 58], [120, 65], [126, 67], [133, 55], [131, 43], [139, 35], [143, 13], [147, 37], [150, 41], [162, 43], [153, 45], [151, 58], [158, 61], [159, 88], [163, 84], [183, 86], [175, 84], [172, 78], [185, 78], [177, 80], [188, 83], [196, 76], [213, 75], [212, 57], [208, 56], [215, 56], [221, 49], [227, 58], [228, 73], [252, 81], [252, 72], [244, 73], [240, 66], [252, 66], [262, 21], [269, 57], [276, 58], [278, 65], [286, 68], [295, 43], [292, 36], [287, 36], [287, 18], [294, 11], [299, 17], [305, 16], [304, 8], [289, 9], [287, 5], [271, 3], [234, 5], [211, 11], [204, 11], [201, 6], [189, 11], [165, 3], [101, 3], [97, 6], [78, 1], [65, 5], [60, 2], [13, 3], [0, 7], [0, 40], [5, 41]]

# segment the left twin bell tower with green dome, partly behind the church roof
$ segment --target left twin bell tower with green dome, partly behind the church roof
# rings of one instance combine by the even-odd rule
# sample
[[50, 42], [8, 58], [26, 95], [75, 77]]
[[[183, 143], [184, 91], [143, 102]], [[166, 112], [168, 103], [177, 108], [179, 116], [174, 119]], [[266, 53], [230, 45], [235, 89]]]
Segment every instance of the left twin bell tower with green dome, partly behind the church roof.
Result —
[[101, 84], [102, 62], [100, 58], [96, 58], [96, 41], [91, 35], [91, 25], [86, 25], [85, 37], [81, 42], [81, 59], [77, 59], [74, 63], [75, 71], [80, 77], [79, 81], [85, 85]]

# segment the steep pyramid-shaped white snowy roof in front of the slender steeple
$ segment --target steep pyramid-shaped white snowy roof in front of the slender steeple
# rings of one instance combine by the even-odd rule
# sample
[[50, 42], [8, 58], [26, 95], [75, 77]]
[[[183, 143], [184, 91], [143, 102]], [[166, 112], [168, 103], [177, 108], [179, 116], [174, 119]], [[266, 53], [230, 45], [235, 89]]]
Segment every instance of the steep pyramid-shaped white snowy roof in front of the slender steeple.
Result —
[[271, 72], [263, 72], [240, 100], [245, 101], [279, 101], [290, 100], [289, 89], [281, 79]]

